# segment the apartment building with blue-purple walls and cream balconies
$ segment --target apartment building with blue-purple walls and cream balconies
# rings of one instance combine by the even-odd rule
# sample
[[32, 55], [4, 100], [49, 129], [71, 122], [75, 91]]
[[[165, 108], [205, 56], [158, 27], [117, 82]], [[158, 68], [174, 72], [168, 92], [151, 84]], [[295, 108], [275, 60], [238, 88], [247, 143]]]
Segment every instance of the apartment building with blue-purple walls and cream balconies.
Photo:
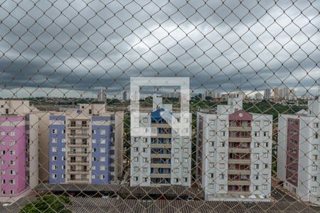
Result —
[[105, 104], [50, 115], [50, 183], [117, 182], [122, 175], [123, 112]]

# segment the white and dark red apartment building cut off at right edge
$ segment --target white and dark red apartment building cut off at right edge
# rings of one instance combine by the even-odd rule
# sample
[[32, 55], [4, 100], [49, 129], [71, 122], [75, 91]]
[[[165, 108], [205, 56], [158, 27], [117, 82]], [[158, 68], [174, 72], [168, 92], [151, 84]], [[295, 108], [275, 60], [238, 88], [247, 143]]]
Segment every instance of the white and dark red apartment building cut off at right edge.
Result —
[[299, 199], [320, 204], [320, 101], [309, 100], [305, 113], [280, 114], [277, 177]]

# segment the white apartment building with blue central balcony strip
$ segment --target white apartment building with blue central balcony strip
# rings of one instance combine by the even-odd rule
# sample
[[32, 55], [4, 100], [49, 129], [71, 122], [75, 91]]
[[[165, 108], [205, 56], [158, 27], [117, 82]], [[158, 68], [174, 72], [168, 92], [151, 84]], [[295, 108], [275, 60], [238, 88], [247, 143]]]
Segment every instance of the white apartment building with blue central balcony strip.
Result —
[[161, 116], [169, 111], [180, 121], [181, 114], [172, 111], [171, 104], [163, 104], [161, 97], [153, 97], [149, 112], [139, 113], [137, 121], [143, 128], [151, 128], [151, 136], [131, 138], [131, 186], [183, 185], [191, 186], [191, 114], [188, 136], [181, 136]]

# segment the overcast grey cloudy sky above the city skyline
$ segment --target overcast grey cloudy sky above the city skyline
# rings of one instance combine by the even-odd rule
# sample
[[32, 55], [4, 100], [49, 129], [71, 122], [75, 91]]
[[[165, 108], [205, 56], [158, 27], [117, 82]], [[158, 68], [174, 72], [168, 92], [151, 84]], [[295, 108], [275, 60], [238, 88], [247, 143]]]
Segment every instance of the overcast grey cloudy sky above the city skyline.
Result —
[[[95, 97], [129, 77], [316, 94], [320, 1], [0, 1], [0, 96]], [[70, 3], [69, 3], [70, 2]]]

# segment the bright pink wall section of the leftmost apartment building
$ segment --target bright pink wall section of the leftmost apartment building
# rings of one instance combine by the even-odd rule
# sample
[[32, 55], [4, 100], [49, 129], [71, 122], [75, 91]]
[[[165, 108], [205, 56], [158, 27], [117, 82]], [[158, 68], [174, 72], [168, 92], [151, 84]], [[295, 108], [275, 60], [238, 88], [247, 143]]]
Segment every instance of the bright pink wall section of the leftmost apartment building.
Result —
[[[26, 190], [26, 118], [0, 116], [1, 197], [17, 196]], [[14, 134], [13, 134], [14, 133]], [[11, 144], [11, 141], [16, 141]], [[14, 153], [11, 153], [14, 152]], [[11, 164], [14, 163], [14, 165]], [[13, 174], [11, 174], [13, 171]], [[14, 181], [14, 184], [10, 183]], [[3, 182], [5, 181], [5, 182]], [[11, 194], [11, 190], [13, 193]], [[4, 193], [5, 192], [5, 193]]]

